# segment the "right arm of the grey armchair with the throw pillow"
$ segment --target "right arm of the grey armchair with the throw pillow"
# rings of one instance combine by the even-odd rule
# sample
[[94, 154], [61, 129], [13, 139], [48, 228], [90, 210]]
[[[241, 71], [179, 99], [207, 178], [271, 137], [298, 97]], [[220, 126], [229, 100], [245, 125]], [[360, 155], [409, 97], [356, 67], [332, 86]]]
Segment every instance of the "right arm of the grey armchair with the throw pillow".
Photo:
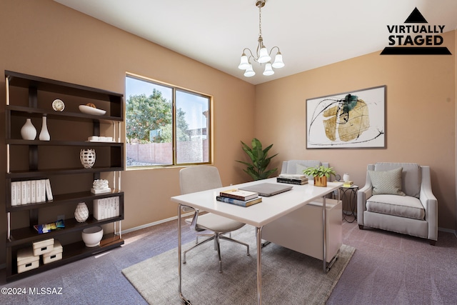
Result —
[[421, 194], [419, 200], [426, 210], [428, 239], [438, 240], [438, 200], [431, 190], [430, 166], [421, 166]]

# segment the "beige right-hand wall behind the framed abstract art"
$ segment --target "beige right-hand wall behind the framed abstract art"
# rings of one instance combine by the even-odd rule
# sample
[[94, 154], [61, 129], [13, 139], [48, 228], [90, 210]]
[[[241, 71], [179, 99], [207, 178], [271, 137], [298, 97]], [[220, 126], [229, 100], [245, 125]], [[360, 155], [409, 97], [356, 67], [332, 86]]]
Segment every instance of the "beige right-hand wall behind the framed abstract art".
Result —
[[[431, 166], [438, 226], [456, 229], [456, 31], [443, 35], [452, 56], [367, 54], [256, 86], [256, 136], [276, 162], [317, 159], [363, 186], [376, 161]], [[286, 59], [285, 59], [286, 60]], [[306, 99], [387, 86], [386, 149], [306, 149]]]

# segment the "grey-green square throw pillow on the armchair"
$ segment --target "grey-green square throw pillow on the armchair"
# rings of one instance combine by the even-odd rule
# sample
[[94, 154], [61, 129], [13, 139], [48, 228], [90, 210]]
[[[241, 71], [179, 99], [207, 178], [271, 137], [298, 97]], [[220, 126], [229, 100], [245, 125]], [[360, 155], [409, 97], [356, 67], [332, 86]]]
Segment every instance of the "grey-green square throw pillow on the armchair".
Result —
[[406, 196], [401, 191], [401, 172], [402, 167], [391, 171], [368, 171], [371, 184], [373, 185], [373, 195], [391, 194]]

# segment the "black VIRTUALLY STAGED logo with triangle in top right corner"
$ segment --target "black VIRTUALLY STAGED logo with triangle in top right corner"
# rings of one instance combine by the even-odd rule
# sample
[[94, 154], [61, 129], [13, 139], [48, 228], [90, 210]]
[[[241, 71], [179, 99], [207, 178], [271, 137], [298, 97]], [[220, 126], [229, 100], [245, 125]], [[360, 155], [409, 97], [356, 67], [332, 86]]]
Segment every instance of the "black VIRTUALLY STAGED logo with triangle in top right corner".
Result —
[[[427, 25], [424, 25], [427, 24]], [[381, 55], [451, 55], [443, 44], [444, 26], [431, 26], [415, 8], [405, 24], [387, 26], [388, 45]], [[395, 46], [397, 45], [397, 46]]]

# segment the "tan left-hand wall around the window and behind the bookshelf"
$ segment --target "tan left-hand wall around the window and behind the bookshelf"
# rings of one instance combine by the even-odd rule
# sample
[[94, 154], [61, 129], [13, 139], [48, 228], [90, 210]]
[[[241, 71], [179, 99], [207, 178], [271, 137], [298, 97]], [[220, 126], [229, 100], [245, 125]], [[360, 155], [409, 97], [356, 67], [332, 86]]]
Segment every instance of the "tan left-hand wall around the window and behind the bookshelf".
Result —
[[[58, 79], [125, 92], [126, 71], [214, 97], [214, 164], [224, 185], [246, 181], [236, 159], [243, 158], [240, 140], [254, 136], [255, 87], [209, 66], [104, 24], [51, 0], [0, 2], [0, 71]], [[159, 30], [159, 29], [157, 29]], [[5, 86], [0, 81], [0, 117], [4, 118]], [[239, 111], [243, 109], [243, 111]], [[0, 124], [1, 147], [4, 124]], [[0, 172], [5, 171], [0, 149]], [[124, 171], [125, 220], [122, 229], [176, 216], [170, 197], [179, 194], [179, 168]], [[1, 175], [3, 177], [3, 175]], [[3, 179], [2, 179], [3, 181]], [[4, 185], [4, 183], [3, 183]], [[4, 198], [0, 188], [0, 198]], [[5, 211], [0, 201], [0, 211]], [[69, 216], [67, 216], [69, 217]], [[15, 217], [14, 225], [24, 219]], [[6, 239], [6, 216], [0, 216], [0, 240]], [[0, 264], [4, 251], [0, 251]]]

